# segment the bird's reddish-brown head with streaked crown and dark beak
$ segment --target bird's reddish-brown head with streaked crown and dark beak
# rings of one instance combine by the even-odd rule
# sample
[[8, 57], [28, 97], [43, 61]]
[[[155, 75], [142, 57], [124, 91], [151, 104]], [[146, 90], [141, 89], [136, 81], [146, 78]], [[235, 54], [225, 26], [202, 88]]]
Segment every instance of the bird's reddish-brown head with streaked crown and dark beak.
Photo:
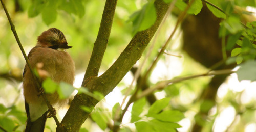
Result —
[[68, 46], [65, 35], [56, 28], [51, 28], [42, 32], [37, 38], [37, 46], [49, 47], [52, 49], [67, 49], [72, 47]]

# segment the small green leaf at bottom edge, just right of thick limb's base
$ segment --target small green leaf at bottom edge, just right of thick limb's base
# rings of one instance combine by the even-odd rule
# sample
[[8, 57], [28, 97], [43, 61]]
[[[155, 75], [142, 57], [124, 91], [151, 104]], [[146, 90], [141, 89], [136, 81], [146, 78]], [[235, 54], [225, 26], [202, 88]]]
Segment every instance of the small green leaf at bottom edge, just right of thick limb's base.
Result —
[[94, 111], [91, 117], [102, 130], [106, 129], [106, 119], [103, 117], [103, 114], [100, 114], [99, 111]]

